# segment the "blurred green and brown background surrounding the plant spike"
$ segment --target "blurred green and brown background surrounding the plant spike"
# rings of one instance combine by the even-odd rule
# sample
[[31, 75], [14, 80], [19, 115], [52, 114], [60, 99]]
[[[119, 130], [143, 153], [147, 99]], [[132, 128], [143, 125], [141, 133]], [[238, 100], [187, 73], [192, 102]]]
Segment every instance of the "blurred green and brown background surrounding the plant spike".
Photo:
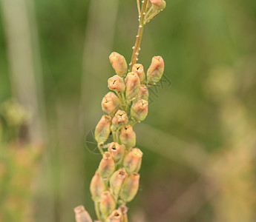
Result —
[[[79, 204], [94, 216], [100, 155], [85, 142], [108, 55], [129, 62], [137, 25], [135, 0], [0, 1], [0, 221], [74, 221]], [[168, 0], [141, 48], [145, 69], [163, 56], [165, 81], [135, 127], [129, 218], [256, 221], [256, 1]]]

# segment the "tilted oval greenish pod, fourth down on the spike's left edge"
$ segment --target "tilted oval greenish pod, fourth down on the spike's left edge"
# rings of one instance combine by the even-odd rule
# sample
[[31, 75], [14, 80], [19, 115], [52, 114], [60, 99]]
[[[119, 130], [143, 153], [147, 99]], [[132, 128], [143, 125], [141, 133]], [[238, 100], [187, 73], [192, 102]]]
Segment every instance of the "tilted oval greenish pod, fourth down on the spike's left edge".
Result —
[[111, 116], [103, 115], [95, 129], [95, 139], [98, 144], [104, 144], [111, 134]]

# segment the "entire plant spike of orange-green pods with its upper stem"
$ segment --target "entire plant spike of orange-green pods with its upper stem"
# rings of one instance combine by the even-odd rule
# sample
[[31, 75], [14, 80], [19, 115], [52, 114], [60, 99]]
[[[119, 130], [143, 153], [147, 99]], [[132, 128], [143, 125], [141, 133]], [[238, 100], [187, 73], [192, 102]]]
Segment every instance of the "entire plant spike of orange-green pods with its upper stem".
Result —
[[[140, 185], [142, 151], [136, 147], [134, 125], [148, 115], [148, 87], [162, 78], [164, 61], [154, 56], [145, 72], [136, 64], [140, 50], [143, 26], [165, 8], [164, 0], [137, 1], [139, 30], [131, 63], [119, 53], [111, 53], [109, 60], [115, 75], [108, 78], [111, 92], [102, 99], [102, 115], [95, 129], [95, 139], [102, 160], [91, 180], [91, 195], [96, 216], [102, 222], [128, 222], [126, 203], [132, 201]], [[109, 143], [112, 136], [113, 142]], [[83, 206], [75, 209], [77, 222], [91, 222]]]

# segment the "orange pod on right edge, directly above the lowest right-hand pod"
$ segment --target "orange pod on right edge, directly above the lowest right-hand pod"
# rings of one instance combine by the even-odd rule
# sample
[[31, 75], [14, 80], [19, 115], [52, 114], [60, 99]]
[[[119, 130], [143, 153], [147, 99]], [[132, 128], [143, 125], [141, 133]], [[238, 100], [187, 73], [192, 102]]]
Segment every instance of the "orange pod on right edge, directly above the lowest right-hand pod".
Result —
[[140, 169], [141, 159], [143, 153], [140, 149], [134, 148], [125, 156], [123, 166], [125, 167], [126, 172], [137, 172]]

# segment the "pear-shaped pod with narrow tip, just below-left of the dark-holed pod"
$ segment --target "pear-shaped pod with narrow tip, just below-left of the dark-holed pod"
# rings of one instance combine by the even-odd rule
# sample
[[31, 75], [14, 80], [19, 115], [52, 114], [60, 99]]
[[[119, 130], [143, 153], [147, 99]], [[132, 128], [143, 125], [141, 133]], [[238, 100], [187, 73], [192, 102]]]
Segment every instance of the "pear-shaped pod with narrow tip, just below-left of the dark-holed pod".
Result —
[[99, 163], [99, 175], [102, 178], [109, 178], [115, 170], [115, 162], [110, 152], [104, 152], [102, 160]]

